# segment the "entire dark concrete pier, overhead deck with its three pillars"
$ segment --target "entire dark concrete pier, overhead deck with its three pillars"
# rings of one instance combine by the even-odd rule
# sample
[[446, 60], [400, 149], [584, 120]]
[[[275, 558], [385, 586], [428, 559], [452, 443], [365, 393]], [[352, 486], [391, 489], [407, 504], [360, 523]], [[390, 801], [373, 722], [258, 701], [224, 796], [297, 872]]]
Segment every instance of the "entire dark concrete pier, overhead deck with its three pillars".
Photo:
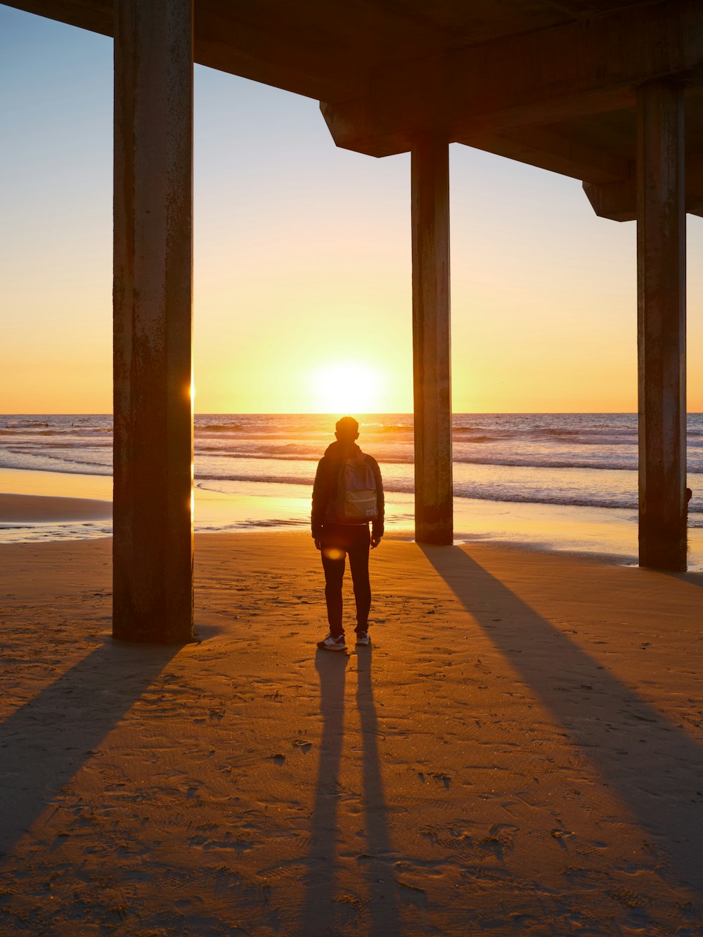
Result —
[[191, 628], [193, 60], [319, 100], [338, 146], [412, 152], [418, 540], [452, 531], [448, 144], [572, 176], [598, 215], [637, 219], [640, 562], [685, 568], [699, 0], [193, 0], [192, 21], [190, 0], [9, 6], [116, 40], [115, 634], [179, 641]]

